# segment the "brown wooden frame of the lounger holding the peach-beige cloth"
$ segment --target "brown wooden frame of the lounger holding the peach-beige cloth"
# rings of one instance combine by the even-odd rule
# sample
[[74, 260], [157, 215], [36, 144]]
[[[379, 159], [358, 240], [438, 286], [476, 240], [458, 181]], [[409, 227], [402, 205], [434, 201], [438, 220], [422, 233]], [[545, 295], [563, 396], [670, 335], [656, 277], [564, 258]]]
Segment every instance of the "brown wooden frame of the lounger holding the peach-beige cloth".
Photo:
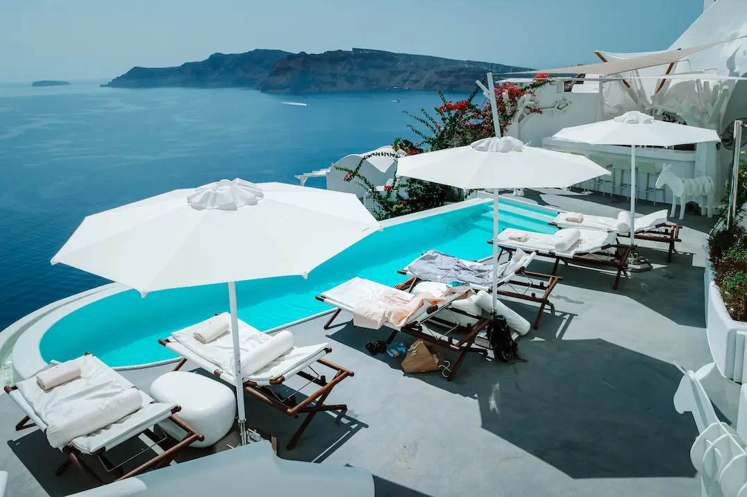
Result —
[[[326, 298], [322, 296], [316, 297], [318, 301], [324, 302], [325, 304], [330, 304]], [[333, 305], [333, 304], [330, 304]], [[441, 319], [437, 316], [438, 312], [441, 310], [448, 309], [450, 312], [453, 313], [459, 313], [463, 316], [468, 316], [473, 319], [477, 319], [477, 324], [474, 326], [461, 326], [457, 325], [456, 327], [450, 323], [445, 321], [444, 319]], [[332, 313], [332, 316], [329, 318], [329, 320], [324, 325], [324, 329], [328, 330], [330, 326], [332, 326], [332, 322], [335, 320], [335, 318], [340, 314], [341, 309], [338, 307], [335, 309], [335, 312]], [[438, 337], [436, 337], [433, 334], [428, 334], [425, 332], [423, 322], [413, 322], [409, 323], [402, 328], [394, 329], [389, 337], [386, 340], [386, 343], [391, 343], [392, 340], [394, 340], [394, 337], [397, 336], [397, 333], [402, 331], [405, 334], [409, 334], [411, 337], [418, 338], [420, 340], [423, 340], [424, 342], [431, 343], [435, 346], [445, 348], [450, 351], [458, 352], [459, 358], [456, 360], [456, 363], [454, 363], [453, 366], [451, 366], [451, 372], [447, 376], [448, 381], [453, 381], [454, 377], [456, 377], [456, 372], [459, 370], [459, 367], [462, 366], [462, 363], [465, 360], [466, 355], [468, 352], [477, 352], [479, 354], [487, 355], [488, 350], [486, 348], [478, 347], [474, 345], [474, 340], [477, 339], [477, 334], [480, 333], [480, 331], [483, 331], [486, 326], [490, 324], [490, 319], [483, 318], [483, 316], [477, 316], [473, 313], [468, 313], [464, 310], [460, 309], [454, 309], [453, 307], [438, 307], [436, 305], [431, 306], [428, 310], [428, 317], [427, 320], [433, 321], [438, 323], [439, 325], [447, 326], [448, 328], [453, 328], [455, 331], [460, 331], [464, 334], [462, 336], [461, 340], [456, 340], [453, 337], [448, 337], [447, 335], [441, 335], [439, 334]]]

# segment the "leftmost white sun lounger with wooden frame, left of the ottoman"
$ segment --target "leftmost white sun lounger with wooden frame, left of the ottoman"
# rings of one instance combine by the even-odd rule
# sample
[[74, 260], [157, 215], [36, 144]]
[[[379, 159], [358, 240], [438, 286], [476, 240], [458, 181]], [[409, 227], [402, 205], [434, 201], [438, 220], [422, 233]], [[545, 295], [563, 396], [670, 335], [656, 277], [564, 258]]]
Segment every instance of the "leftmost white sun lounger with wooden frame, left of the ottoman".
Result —
[[[22, 430], [37, 425], [40, 430], [46, 431], [52, 420], [60, 419], [62, 415], [75, 413], [78, 407], [84, 403], [90, 403], [102, 398], [122, 393], [134, 386], [118, 372], [102, 363], [97, 357], [86, 354], [74, 359], [81, 376], [66, 384], [61, 384], [52, 390], [42, 390], [37, 385], [37, 378], [32, 376], [24, 381], [5, 387], [5, 392], [13, 399], [25, 413], [24, 418], [16, 425], [16, 430]], [[73, 439], [68, 445], [61, 448], [67, 455], [67, 460], [57, 469], [56, 474], [61, 475], [71, 464], [78, 466], [86, 475], [93, 478], [97, 483], [103, 483], [83, 460], [81, 455], [95, 455], [102, 462], [108, 472], [114, 473], [118, 478], [128, 478], [147, 471], [165, 466], [173, 460], [179, 451], [189, 446], [196, 440], [202, 440], [202, 435], [187, 425], [176, 416], [180, 407], [176, 404], [163, 404], [155, 402], [142, 390], [137, 390], [143, 398], [143, 407], [128, 416], [105, 428], [93, 431], [90, 434]], [[72, 414], [74, 415], [74, 414]], [[151, 428], [164, 419], [170, 419], [179, 428], [187, 432], [185, 437], [175, 446], [156, 455], [146, 463], [141, 464], [126, 474], [121, 469], [121, 464], [114, 466], [104, 457], [105, 451], [114, 448], [120, 443], [130, 440], [137, 435], [145, 434], [154, 444], [161, 441], [156, 437]], [[31, 421], [31, 424], [27, 424]], [[127, 461], [125, 461], [127, 462]]]

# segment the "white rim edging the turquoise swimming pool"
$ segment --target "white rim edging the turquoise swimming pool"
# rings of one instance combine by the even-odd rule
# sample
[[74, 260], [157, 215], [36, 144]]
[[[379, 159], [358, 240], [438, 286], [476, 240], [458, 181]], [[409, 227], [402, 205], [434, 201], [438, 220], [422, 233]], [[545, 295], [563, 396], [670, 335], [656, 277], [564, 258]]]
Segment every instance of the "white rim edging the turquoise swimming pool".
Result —
[[[488, 193], [478, 192], [477, 196], [474, 199], [454, 202], [453, 204], [444, 205], [442, 207], [422, 210], [418, 213], [406, 214], [404, 216], [397, 216], [396, 218], [385, 219], [379, 222], [379, 224], [382, 225], [383, 228], [387, 228], [388, 226], [400, 225], [404, 222], [424, 219], [426, 217], [436, 216], [438, 214], [452, 212], [454, 210], [461, 210], [479, 204], [487, 204], [491, 202], [492, 199], [492, 195]], [[500, 201], [516, 204], [528, 204], [533, 209], [545, 211], [548, 213], [558, 212], [557, 209], [551, 209], [549, 207], [538, 205], [532, 201], [516, 199], [515, 197], [501, 195]], [[126, 287], [125, 285], [120, 283], [105, 284], [101, 287], [96, 287], [91, 290], [87, 290], [85, 292], [81, 292], [73, 296], [69, 296], [66, 298], [62, 298], [61, 300], [52, 302], [52, 304], [48, 304], [45, 307], [42, 307], [34, 311], [33, 313], [22, 317], [18, 321], [14, 322], [13, 325], [5, 328], [4, 332], [10, 331], [10, 333], [7, 334], [5, 340], [0, 340], [0, 351], [2, 351], [7, 342], [16, 339], [15, 344], [13, 345], [13, 350], [10, 353], [10, 357], [13, 361], [14, 375], [19, 378], [29, 378], [39, 372], [40, 369], [43, 369], [47, 366], [48, 363], [43, 359], [41, 355], [40, 343], [43, 335], [46, 333], [46, 331], [49, 330], [49, 328], [52, 327], [52, 325], [55, 324], [55, 322], [58, 322], [64, 316], [80, 309], [81, 307], [84, 307], [87, 304], [90, 304], [91, 302], [106, 298], [108, 296], [116, 295], [117, 293], [122, 293], [126, 290], [131, 290], [131, 288]], [[311, 316], [306, 316], [293, 322], [288, 322], [284, 325], [270, 328], [268, 330], [265, 330], [264, 333], [272, 334], [285, 328], [291, 328], [294, 325], [298, 325], [300, 323], [310, 321], [311, 319], [316, 319], [317, 317], [332, 313], [334, 310], [335, 309], [323, 310], [320, 313], [314, 313]], [[3, 334], [5, 334], [4, 332]], [[113, 369], [117, 371], [144, 369], [153, 366], [161, 366], [163, 364], [173, 363], [177, 360], [179, 360], [179, 357], [159, 360], [152, 363], [134, 364], [131, 366], [117, 366]]]

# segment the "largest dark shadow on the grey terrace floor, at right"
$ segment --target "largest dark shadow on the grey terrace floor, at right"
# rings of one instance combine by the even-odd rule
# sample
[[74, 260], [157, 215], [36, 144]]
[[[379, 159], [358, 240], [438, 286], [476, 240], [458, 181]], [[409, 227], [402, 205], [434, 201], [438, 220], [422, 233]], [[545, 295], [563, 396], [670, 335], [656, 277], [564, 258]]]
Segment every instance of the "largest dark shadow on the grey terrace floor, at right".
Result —
[[672, 406], [675, 366], [601, 339], [520, 351], [527, 363], [480, 363], [450, 386], [477, 397], [484, 429], [574, 479], [695, 475], [697, 429]]

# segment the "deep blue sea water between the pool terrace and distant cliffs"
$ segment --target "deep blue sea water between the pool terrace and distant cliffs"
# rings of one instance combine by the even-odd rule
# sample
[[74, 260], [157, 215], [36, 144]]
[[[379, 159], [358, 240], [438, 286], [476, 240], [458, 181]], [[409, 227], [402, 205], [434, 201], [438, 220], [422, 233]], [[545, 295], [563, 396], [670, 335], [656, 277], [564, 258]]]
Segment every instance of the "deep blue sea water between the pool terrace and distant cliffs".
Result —
[[85, 216], [221, 178], [297, 183], [294, 175], [344, 155], [414, 140], [403, 110], [440, 103], [436, 93], [290, 97], [99, 83], [0, 84], [0, 330], [107, 282], [49, 264]]

